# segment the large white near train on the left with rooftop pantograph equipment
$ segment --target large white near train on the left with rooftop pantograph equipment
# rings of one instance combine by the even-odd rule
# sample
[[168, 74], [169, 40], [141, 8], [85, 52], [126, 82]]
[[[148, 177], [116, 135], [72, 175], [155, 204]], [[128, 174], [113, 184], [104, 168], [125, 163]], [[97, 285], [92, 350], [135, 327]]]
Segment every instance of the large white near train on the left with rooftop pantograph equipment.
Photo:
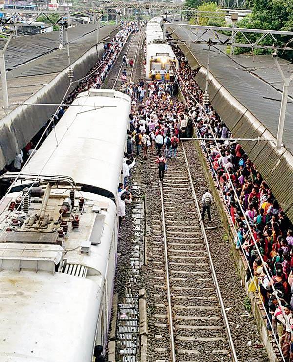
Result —
[[91, 362], [105, 346], [130, 103], [81, 93], [0, 202], [1, 362]]

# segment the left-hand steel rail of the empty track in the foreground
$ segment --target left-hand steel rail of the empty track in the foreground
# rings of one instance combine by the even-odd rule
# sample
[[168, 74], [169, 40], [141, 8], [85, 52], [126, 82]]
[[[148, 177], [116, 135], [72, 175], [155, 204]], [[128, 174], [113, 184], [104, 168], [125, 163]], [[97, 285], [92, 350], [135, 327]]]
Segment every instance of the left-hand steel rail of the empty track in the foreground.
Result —
[[164, 258], [165, 258], [167, 298], [168, 298], [168, 320], [169, 320], [169, 331], [170, 331], [171, 361], [176, 362], [172, 303], [171, 303], [171, 289], [170, 289], [170, 276], [169, 276], [169, 264], [168, 264], [168, 251], [167, 251], [167, 236], [166, 236], [166, 224], [165, 224], [165, 212], [164, 212], [164, 195], [163, 195], [162, 182], [160, 182], [160, 193], [161, 193]]

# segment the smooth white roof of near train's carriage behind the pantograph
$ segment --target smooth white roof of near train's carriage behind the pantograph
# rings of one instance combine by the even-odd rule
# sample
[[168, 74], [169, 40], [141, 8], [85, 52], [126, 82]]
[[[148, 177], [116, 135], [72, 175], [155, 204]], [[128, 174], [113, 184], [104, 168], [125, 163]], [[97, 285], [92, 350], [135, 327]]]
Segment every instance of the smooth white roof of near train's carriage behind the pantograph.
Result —
[[22, 172], [68, 176], [114, 198], [130, 105], [129, 96], [114, 90], [80, 93]]

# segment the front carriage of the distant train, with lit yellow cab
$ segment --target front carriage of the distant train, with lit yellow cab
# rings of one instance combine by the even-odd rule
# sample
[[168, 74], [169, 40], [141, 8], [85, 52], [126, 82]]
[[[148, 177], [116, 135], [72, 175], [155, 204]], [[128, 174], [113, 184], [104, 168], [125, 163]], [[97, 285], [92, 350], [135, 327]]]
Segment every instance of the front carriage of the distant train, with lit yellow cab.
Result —
[[[179, 62], [176, 58], [171, 46], [165, 43], [153, 43], [146, 47], [146, 80], [151, 80], [151, 70], [156, 70], [156, 79], [161, 79], [160, 71], [164, 68], [167, 70], [172, 68], [179, 69]], [[169, 81], [169, 74], [165, 76], [165, 80]]]

